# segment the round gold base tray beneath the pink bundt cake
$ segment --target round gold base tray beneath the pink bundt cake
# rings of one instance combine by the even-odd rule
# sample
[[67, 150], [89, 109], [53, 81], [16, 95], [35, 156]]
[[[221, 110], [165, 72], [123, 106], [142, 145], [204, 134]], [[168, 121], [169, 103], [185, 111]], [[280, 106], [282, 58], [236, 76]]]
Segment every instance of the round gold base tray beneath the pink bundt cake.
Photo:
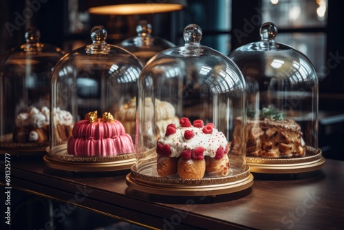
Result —
[[71, 156], [67, 154], [67, 145], [62, 145], [54, 151], [48, 147], [43, 160], [47, 167], [64, 171], [120, 171], [130, 169], [136, 156], [134, 153], [117, 156]]

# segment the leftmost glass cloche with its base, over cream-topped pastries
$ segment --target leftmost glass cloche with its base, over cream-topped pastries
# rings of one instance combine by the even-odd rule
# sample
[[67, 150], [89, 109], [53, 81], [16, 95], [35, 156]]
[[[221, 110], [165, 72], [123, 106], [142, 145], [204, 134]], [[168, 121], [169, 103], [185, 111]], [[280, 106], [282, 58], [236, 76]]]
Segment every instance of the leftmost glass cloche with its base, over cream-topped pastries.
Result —
[[1, 57], [0, 151], [42, 154], [48, 146], [50, 77], [65, 52], [40, 37], [29, 28], [26, 43]]

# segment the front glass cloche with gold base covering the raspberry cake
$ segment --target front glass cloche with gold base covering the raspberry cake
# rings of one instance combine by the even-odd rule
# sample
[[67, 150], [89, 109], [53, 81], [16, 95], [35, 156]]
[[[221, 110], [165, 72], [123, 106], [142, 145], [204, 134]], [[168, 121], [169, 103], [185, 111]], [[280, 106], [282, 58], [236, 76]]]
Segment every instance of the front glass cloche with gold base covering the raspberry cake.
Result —
[[[233, 140], [246, 114], [244, 78], [227, 56], [184, 29], [185, 45], [155, 55], [138, 81], [136, 164], [127, 185], [152, 194], [213, 196], [247, 189], [245, 142]], [[244, 135], [244, 125], [237, 129]], [[244, 138], [244, 137], [243, 137]]]

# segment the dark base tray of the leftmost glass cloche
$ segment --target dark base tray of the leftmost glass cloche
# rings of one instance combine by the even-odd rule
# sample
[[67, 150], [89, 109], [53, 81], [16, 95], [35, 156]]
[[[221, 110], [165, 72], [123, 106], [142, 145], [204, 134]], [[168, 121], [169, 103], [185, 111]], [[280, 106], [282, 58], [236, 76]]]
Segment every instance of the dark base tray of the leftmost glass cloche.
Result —
[[14, 156], [39, 156], [46, 154], [45, 149], [49, 143], [14, 143], [12, 134], [1, 136], [0, 154], [11, 154]]

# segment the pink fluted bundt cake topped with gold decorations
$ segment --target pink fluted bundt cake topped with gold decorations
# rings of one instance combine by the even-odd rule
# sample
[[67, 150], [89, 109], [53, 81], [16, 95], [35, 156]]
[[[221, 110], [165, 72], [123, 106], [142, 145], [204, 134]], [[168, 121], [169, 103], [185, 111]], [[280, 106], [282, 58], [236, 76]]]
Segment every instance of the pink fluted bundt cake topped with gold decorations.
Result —
[[116, 156], [134, 151], [131, 136], [109, 112], [102, 118], [98, 118], [96, 111], [89, 112], [85, 120], [74, 125], [72, 134], [67, 143], [70, 155]]

